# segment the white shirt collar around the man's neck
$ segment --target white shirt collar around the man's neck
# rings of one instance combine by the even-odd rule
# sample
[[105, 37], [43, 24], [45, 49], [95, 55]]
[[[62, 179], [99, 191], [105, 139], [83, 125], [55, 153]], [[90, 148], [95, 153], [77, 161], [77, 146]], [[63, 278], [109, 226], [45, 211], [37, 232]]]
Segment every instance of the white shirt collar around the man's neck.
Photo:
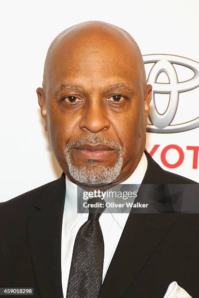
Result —
[[[146, 170], [148, 166], [148, 161], [145, 153], [143, 152], [143, 155], [137, 165], [137, 167], [134, 169], [133, 173], [128, 177], [125, 181], [123, 181], [121, 184], [138, 184], [140, 185], [142, 183], [142, 180], [145, 176]], [[66, 176], [66, 175], [65, 175]], [[67, 176], [66, 176], [66, 199], [65, 199], [65, 207], [64, 207], [64, 213], [66, 215], [66, 220], [68, 228], [72, 228], [75, 223], [79, 220], [81, 217], [80, 213], [77, 213], [77, 185], [72, 182]], [[84, 213], [84, 216], [86, 214]], [[126, 223], [126, 220], [128, 218], [129, 214], [121, 214], [121, 213], [113, 213], [112, 216], [115, 218], [116, 222], [124, 228], [124, 225]]]

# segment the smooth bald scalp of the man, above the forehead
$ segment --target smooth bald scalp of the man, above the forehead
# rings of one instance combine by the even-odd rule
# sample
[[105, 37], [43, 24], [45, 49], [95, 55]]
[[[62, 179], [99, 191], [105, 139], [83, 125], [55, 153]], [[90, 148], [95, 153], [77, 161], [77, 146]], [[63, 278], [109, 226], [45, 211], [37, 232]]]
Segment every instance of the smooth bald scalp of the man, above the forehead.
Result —
[[[82, 56], [85, 60], [103, 60], [109, 64], [125, 63], [127, 69], [136, 73], [137, 79], [146, 89], [146, 74], [140, 49], [133, 37], [125, 30], [101, 21], [86, 21], [71, 26], [61, 32], [51, 42], [44, 66], [44, 92], [55, 69], [66, 62], [72, 67], [72, 61]], [[99, 57], [100, 56], [100, 57]], [[120, 59], [120, 61], [119, 61]]]

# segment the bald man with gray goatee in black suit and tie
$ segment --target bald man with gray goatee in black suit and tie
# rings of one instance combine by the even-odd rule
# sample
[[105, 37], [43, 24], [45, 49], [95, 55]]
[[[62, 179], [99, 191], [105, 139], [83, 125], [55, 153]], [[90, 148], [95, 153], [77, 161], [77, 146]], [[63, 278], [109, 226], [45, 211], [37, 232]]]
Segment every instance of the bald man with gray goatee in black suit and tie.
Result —
[[0, 286], [36, 298], [159, 298], [177, 281], [199, 297], [197, 214], [77, 214], [77, 185], [194, 184], [145, 151], [152, 87], [136, 42], [104, 22], [72, 26], [50, 45], [42, 87], [63, 174], [1, 204]]

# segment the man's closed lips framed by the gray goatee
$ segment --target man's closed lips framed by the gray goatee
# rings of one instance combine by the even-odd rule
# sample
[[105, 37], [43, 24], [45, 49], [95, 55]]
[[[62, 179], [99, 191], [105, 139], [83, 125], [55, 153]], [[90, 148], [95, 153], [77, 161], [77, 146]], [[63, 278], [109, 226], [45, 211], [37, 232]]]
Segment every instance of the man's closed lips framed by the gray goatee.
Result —
[[82, 157], [90, 159], [100, 159], [102, 157], [108, 157], [115, 153], [116, 150], [104, 144], [83, 144], [78, 147], [73, 148]]

